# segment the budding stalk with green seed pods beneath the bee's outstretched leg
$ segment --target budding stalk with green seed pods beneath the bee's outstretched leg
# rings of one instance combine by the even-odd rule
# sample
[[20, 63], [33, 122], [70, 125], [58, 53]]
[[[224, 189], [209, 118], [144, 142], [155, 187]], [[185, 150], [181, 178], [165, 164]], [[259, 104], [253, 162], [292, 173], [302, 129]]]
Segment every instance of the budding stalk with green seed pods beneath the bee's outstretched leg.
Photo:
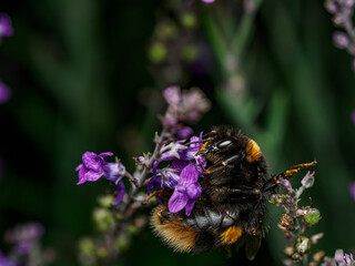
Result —
[[[311, 206], [298, 206], [301, 195], [306, 188], [314, 184], [314, 173], [307, 173], [301, 181], [298, 190], [294, 190], [288, 180], [280, 176], [275, 177], [276, 184], [285, 188], [285, 194], [272, 195], [270, 202], [276, 206], [284, 208], [285, 213], [280, 217], [278, 228], [282, 229], [285, 237], [290, 241], [290, 245], [284, 248], [284, 254], [291, 259], [284, 260], [284, 265], [308, 265], [308, 266], [351, 266], [355, 265], [352, 254], [345, 254], [342, 249], [335, 252], [334, 257], [324, 256], [323, 250], [314, 253], [312, 256], [311, 248], [322, 237], [323, 233], [306, 236], [311, 226], [316, 225], [321, 221], [321, 213], [311, 204]], [[322, 258], [324, 257], [323, 262]], [[311, 258], [311, 259], [310, 259]], [[322, 263], [321, 263], [322, 262]]]

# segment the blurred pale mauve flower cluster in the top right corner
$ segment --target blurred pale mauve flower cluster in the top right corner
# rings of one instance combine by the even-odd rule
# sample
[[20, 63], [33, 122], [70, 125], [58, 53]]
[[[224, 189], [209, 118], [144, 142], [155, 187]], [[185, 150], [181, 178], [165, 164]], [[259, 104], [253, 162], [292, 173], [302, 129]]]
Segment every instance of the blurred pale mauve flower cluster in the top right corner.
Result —
[[353, 70], [355, 71], [355, 29], [353, 25], [354, 0], [326, 0], [325, 8], [332, 13], [333, 22], [344, 31], [333, 34], [334, 44], [345, 49], [353, 57]]

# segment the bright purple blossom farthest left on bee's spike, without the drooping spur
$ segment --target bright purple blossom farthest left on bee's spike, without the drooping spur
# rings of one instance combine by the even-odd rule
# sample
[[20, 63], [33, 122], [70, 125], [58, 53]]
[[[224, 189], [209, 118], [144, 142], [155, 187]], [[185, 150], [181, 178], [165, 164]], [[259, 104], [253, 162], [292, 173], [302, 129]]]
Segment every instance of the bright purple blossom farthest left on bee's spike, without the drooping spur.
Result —
[[85, 152], [82, 155], [82, 164], [78, 165], [75, 171], [79, 171], [79, 182], [80, 185], [87, 181], [97, 181], [104, 174], [103, 166], [106, 162], [103, 160], [105, 156], [112, 156], [113, 153], [104, 152], [99, 155], [92, 152]]

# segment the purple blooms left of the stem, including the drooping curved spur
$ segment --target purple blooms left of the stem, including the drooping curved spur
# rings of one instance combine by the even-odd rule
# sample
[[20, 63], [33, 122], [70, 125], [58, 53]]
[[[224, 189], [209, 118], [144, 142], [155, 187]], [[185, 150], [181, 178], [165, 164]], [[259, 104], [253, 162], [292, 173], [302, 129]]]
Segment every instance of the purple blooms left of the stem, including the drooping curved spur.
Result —
[[79, 171], [79, 182], [77, 185], [80, 185], [87, 181], [94, 182], [100, 177], [103, 177], [110, 181], [115, 190], [116, 197], [111, 205], [119, 204], [124, 196], [125, 188], [122, 181], [122, 176], [125, 174], [125, 167], [120, 162], [106, 163], [104, 161], [105, 156], [112, 156], [113, 153], [104, 152], [99, 155], [92, 152], [85, 152], [82, 155], [82, 164], [80, 164], [75, 171]]

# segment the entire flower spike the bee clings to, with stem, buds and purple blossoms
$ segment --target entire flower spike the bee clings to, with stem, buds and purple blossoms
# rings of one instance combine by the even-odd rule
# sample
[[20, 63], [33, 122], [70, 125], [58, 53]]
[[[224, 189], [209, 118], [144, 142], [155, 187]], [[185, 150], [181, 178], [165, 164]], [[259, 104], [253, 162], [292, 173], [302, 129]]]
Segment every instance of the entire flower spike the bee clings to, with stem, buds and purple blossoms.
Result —
[[[111, 195], [101, 196], [100, 207], [93, 211], [94, 224], [102, 236], [95, 239], [85, 237], [80, 242], [79, 256], [83, 264], [113, 262], [128, 249], [132, 236], [148, 223], [146, 214], [136, 215], [136, 211], [154, 203], [146, 201], [150, 197], [143, 191], [145, 186], [155, 192], [172, 190], [169, 209], [176, 213], [184, 208], [186, 215], [191, 214], [202, 193], [199, 178], [203, 177], [206, 166], [205, 158], [197, 154], [202, 146], [202, 133], [190, 137], [190, 143], [185, 143], [193, 133], [185, 124], [196, 122], [209, 110], [210, 102], [196, 88], [182, 91], [178, 86], [170, 86], [164, 90], [163, 95], [168, 109], [160, 117], [162, 132], [154, 137], [155, 147], [152, 153], [134, 157], [136, 168], [132, 174], [118, 160], [115, 163], [105, 162], [106, 156], [113, 155], [111, 152], [85, 152], [82, 164], [75, 168], [79, 172], [78, 185], [104, 178], [116, 188], [115, 200]], [[169, 161], [171, 166], [160, 167]], [[151, 174], [153, 175], [150, 176]], [[128, 177], [130, 182], [128, 190], [123, 177]]]

